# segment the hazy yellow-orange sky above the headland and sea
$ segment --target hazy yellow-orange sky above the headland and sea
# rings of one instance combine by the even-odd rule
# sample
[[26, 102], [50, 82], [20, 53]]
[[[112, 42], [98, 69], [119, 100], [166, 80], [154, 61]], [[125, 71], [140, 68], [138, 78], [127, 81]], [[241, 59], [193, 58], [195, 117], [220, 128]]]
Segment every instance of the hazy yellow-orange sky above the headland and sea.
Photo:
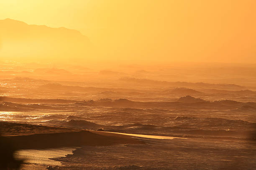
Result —
[[256, 62], [256, 0], [0, 0], [0, 19], [76, 29], [110, 60]]

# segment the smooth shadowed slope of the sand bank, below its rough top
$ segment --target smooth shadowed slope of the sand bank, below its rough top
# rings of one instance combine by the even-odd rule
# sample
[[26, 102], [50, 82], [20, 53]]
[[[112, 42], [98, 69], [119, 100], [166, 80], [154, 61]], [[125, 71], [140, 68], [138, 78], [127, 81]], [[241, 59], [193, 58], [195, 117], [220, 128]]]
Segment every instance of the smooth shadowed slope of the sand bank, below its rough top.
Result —
[[10, 136], [18, 149], [35, 149], [35, 148], [58, 148], [67, 146], [97, 146], [97, 145], [115, 145], [128, 143], [142, 143], [125, 135], [112, 133], [97, 133], [82, 130], [79, 132], [63, 133], [41, 133], [33, 135]]

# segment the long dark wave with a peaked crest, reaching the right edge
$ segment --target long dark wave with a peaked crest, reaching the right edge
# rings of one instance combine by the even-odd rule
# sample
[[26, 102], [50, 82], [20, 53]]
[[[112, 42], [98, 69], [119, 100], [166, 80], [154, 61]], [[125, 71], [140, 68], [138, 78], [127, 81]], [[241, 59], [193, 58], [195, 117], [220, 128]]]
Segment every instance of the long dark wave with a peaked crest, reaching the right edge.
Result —
[[181, 97], [176, 102], [138, 102], [127, 99], [103, 99], [103, 100], [87, 100], [84, 102], [77, 102], [76, 105], [81, 106], [107, 106], [107, 107], [125, 107], [125, 108], [169, 108], [169, 109], [236, 109], [238, 107], [248, 105], [256, 107], [255, 102], [237, 102], [235, 100], [219, 100], [206, 101], [192, 96]]

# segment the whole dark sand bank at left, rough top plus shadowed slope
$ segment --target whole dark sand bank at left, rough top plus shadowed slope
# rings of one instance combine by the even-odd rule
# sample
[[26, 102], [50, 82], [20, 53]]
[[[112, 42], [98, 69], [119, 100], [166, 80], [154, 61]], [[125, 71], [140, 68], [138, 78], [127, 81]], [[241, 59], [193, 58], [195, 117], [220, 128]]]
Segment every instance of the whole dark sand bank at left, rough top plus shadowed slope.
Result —
[[12, 141], [16, 149], [143, 143], [126, 135], [113, 133], [9, 122], [0, 123], [1, 133], [5, 135], [5, 138]]

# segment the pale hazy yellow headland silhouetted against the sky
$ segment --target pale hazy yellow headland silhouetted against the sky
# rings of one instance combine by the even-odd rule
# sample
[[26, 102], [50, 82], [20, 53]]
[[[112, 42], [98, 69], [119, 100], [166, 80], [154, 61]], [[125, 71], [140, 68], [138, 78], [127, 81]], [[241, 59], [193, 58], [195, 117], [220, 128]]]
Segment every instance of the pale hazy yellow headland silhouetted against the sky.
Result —
[[[9, 60], [76, 61], [90, 53], [90, 40], [77, 30], [0, 20], [1, 56]], [[54, 57], [53, 57], [54, 56]], [[31, 60], [32, 59], [32, 60]]]

